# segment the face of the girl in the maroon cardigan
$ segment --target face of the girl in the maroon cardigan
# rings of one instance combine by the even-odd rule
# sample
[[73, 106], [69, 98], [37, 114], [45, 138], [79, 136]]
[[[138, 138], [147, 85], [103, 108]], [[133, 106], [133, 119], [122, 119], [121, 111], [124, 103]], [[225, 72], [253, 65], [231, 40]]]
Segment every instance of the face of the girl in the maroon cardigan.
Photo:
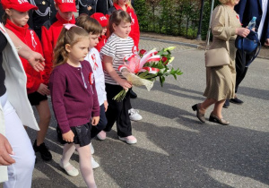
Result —
[[69, 44], [66, 44], [65, 50], [68, 52], [68, 59], [72, 62], [83, 61], [89, 53], [89, 46], [90, 39], [88, 37], [80, 38], [80, 40], [72, 47]]

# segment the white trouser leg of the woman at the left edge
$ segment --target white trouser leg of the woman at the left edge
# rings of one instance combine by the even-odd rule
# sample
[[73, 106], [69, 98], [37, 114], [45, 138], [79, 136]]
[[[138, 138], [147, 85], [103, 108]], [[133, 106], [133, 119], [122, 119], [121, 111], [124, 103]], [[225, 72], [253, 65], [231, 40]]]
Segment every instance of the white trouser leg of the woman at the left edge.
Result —
[[4, 106], [4, 122], [5, 136], [13, 148], [13, 158], [16, 161], [7, 167], [8, 181], [4, 183], [4, 188], [30, 188], [36, 157], [22, 121], [9, 102]]

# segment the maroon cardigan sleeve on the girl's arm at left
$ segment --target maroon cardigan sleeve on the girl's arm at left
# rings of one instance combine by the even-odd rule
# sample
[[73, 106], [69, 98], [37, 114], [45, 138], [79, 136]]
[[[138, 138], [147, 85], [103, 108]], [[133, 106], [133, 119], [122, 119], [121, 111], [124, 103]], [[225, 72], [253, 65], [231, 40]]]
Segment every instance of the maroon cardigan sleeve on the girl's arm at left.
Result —
[[53, 111], [62, 133], [70, 131], [64, 103], [65, 88], [65, 76], [54, 70], [50, 75], [49, 89]]

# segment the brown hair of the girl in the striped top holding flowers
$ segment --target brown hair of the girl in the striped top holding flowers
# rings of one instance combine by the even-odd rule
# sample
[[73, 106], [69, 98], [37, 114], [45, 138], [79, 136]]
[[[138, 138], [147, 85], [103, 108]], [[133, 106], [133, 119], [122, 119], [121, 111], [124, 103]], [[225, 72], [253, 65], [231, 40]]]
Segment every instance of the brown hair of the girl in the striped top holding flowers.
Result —
[[127, 13], [126, 11], [122, 11], [122, 10], [114, 11], [110, 15], [110, 17], [109, 17], [108, 30], [109, 30], [109, 32], [111, 34], [114, 32], [113, 23], [118, 26], [121, 21], [132, 23], [132, 18], [129, 15], [129, 13]]

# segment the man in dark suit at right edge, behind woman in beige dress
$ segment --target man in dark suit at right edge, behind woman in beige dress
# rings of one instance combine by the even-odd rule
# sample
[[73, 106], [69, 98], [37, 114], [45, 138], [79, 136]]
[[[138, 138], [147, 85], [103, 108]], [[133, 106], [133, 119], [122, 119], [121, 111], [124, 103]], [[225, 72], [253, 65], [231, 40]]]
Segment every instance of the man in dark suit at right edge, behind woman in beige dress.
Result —
[[[235, 6], [235, 11], [239, 13], [239, 19], [242, 27], [247, 27], [249, 21], [256, 17], [256, 30], [262, 45], [269, 46], [269, 4], [268, 0], [240, 0], [239, 4]], [[239, 50], [236, 56], [236, 88], [237, 92], [239, 84], [245, 78], [247, 73], [247, 62], [254, 56], [254, 54], [241, 54]], [[239, 98], [231, 98], [230, 102], [235, 104], [242, 104], [243, 101]], [[226, 107], [229, 107], [229, 100], [225, 102]], [[225, 105], [223, 106], [225, 107]]]

